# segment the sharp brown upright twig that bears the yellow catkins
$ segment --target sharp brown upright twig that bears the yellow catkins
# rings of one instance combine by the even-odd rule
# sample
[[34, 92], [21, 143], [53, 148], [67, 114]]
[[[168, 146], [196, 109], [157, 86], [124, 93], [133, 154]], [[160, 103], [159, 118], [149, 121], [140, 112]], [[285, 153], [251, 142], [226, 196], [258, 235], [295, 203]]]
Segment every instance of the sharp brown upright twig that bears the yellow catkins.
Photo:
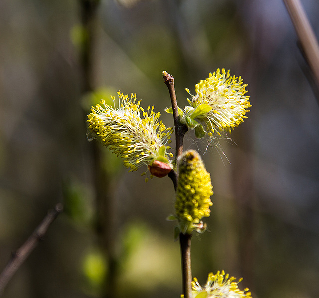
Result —
[[[174, 78], [172, 75], [163, 71], [163, 78], [166, 86], [169, 90], [171, 105], [173, 109], [173, 118], [175, 125], [175, 137], [176, 137], [176, 160], [183, 153], [183, 140], [184, 135], [188, 128], [186, 125], [182, 124], [179, 120], [178, 106], [174, 86]], [[172, 170], [168, 176], [174, 183], [175, 191], [177, 189], [178, 174], [176, 171]], [[183, 279], [183, 293], [185, 298], [191, 298], [191, 258], [190, 258], [190, 244], [191, 244], [191, 234], [179, 234], [180, 250], [181, 250], [181, 261], [182, 261], [182, 279]]]

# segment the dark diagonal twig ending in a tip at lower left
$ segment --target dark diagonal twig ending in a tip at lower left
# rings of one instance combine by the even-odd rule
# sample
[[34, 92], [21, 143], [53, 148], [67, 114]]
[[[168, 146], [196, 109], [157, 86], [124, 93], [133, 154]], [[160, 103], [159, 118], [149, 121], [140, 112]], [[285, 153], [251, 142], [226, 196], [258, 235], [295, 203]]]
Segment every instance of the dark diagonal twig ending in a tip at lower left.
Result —
[[9, 263], [0, 274], [0, 296], [9, 280], [19, 269], [29, 254], [35, 249], [40, 240], [43, 239], [46, 231], [56, 217], [63, 211], [63, 205], [57, 204], [54, 209], [50, 210], [40, 225], [33, 231], [27, 241], [12, 254]]

